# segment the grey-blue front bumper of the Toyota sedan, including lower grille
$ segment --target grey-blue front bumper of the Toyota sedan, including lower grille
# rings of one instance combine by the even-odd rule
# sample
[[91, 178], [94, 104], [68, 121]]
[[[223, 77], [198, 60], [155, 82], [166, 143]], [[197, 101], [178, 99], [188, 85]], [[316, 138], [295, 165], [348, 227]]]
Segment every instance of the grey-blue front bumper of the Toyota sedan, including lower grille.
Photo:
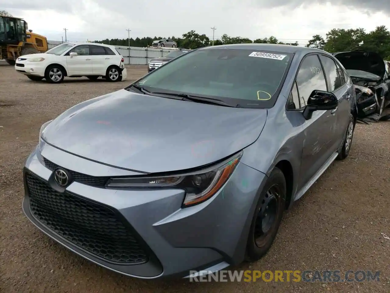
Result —
[[[220, 270], [243, 261], [263, 173], [240, 163], [218, 194], [182, 209], [184, 191], [106, 189], [85, 176], [134, 172], [47, 144], [41, 144], [41, 150], [42, 155], [39, 147], [35, 149], [23, 170], [23, 211], [35, 226], [76, 254], [139, 278], [186, 277], [190, 270]], [[55, 191], [56, 166], [48, 160], [67, 170], [78, 166], [81, 174], [73, 175], [75, 181], [65, 191]]]

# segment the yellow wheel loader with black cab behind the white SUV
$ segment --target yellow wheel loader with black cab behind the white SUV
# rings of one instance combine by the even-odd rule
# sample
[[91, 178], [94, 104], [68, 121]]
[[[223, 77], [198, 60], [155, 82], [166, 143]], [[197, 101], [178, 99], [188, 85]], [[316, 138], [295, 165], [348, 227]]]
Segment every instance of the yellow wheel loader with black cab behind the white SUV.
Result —
[[44, 53], [48, 50], [46, 37], [28, 30], [22, 18], [0, 16], [0, 59], [15, 65], [22, 55]]

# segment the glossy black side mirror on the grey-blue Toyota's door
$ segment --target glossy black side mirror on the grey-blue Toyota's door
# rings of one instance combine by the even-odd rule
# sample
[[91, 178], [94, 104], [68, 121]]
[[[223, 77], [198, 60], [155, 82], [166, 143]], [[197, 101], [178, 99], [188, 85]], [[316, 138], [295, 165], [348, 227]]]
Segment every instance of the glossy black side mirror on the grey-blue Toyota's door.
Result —
[[314, 90], [307, 100], [307, 105], [303, 110], [303, 117], [309, 120], [312, 118], [314, 111], [333, 110], [337, 108], [337, 105], [339, 105], [339, 100], [337, 100], [334, 94], [328, 91]]

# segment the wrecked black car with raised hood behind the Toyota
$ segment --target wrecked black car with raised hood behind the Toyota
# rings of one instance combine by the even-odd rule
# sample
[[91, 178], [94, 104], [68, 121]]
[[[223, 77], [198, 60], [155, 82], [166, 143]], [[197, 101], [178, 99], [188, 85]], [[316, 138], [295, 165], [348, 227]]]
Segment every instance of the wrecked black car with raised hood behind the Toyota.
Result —
[[379, 118], [390, 104], [390, 72], [386, 61], [375, 52], [355, 50], [337, 52], [333, 55], [340, 61], [355, 84], [358, 118]]

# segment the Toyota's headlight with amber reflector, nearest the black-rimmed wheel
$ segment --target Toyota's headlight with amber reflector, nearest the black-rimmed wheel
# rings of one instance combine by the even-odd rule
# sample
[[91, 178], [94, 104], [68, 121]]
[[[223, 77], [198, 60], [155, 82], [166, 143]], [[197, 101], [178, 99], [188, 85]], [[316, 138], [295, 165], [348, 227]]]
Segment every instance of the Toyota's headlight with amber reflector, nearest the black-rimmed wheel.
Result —
[[242, 152], [217, 167], [176, 176], [112, 178], [110, 188], [178, 188], [186, 191], [183, 207], [209, 199], [225, 184], [241, 159]]

